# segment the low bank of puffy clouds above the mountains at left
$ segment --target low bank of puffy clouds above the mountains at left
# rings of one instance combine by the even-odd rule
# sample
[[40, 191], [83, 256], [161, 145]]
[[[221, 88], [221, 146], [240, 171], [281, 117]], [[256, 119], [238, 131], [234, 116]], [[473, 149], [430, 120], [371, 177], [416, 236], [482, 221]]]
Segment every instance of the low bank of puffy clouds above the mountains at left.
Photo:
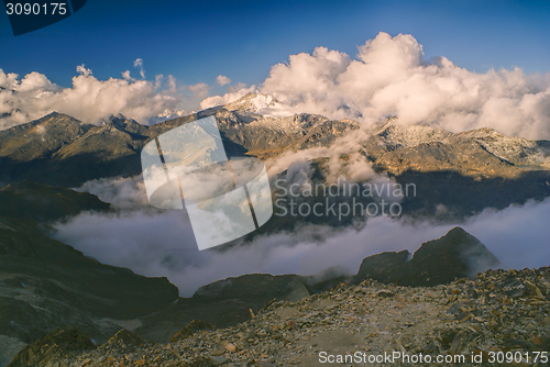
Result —
[[63, 88], [40, 73], [20, 79], [16, 74], [0, 69], [0, 130], [53, 111], [87, 123], [99, 123], [111, 114], [122, 113], [146, 124], [187, 114], [188, 105], [198, 104], [208, 93], [206, 85], [177, 88], [173, 76], [168, 76], [167, 89], [163, 89], [162, 76], [154, 82], [135, 80], [127, 70], [121, 79], [98, 80], [84, 65], [79, 65], [77, 71], [73, 86]]

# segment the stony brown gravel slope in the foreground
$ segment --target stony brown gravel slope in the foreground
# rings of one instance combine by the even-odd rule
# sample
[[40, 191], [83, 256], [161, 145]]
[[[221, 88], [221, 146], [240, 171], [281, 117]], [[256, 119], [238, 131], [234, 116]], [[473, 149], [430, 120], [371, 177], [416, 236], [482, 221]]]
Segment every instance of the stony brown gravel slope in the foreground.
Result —
[[[299, 302], [273, 302], [234, 327], [195, 321], [167, 344], [122, 330], [97, 346], [79, 330], [57, 330], [23, 349], [10, 367], [321, 366], [331, 365], [329, 358], [345, 362], [346, 355], [340, 365], [480, 366], [512, 358], [513, 366], [548, 366], [549, 305], [549, 267], [487, 270], [435, 287], [367, 279]], [[387, 359], [397, 353], [421, 354], [424, 363]], [[373, 359], [384, 354], [382, 363]], [[438, 363], [438, 355], [447, 359]], [[460, 356], [464, 363], [449, 359]]]

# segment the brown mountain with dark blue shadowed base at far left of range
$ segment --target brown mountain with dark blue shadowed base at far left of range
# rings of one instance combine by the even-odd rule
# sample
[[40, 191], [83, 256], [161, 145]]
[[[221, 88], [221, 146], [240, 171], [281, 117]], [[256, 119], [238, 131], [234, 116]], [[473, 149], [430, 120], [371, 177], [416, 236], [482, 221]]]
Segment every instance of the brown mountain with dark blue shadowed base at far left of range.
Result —
[[[111, 176], [139, 174], [146, 126], [111, 118], [102, 126], [53, 112], [0, 131], [1, 180], [28, 179], [61, 187]], [[136, 159], [138, 158], [138, 159]]]

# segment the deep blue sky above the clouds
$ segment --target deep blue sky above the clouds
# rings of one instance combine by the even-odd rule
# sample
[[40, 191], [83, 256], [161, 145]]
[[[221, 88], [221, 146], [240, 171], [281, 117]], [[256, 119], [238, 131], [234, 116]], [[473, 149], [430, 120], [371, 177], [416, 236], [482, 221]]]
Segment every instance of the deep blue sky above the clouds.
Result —
[[[143, 59], [146, 79], [174, 75], [213, 84], [218, 75], [257, 84], [288, 55], [327, 46], [350, 54], [381, 31], [413, 34], [426, 58], [470, 70], [550, 70], [550, 1], [106, 1], [14, 37], [0, 14], [0, 68], [45, 74], [70, 86], [85, 64], [99, 79]], [[216, 90], [215, 90], [216, 91]]]

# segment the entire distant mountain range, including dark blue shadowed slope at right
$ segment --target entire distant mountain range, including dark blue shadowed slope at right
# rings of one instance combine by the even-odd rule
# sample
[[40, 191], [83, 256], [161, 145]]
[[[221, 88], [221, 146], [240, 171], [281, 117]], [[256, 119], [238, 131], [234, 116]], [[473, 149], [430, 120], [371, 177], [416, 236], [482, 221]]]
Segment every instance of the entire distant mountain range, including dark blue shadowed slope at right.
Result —
[[[395, 118], [364, 131], [351, 120], [266, 114], [276, 103], [268, 96], [250, 93], [227, 105], [151, 126], [122, 115], [90, 125], [54, 112], [0, 132], [0, 181], [25, 179], [74, 188], [92, 179], [139, 175], [140, 153], [147, 142], [195, 119], [216, 115], [228, 155], [258, 157], [268, 169], [286, 152], [329, 148], [361, 130], [364, 138], [349, 153], [360, 154], [364, 165], [396, 182], [416, 185], [416, 196], [402, 202], [409, 216], [460, 220], [485, 208], [504, 209], [550, 194], [549, 141], [510, 137], [492, 129], [452, 133], [406, 126]], [[323, 160], [315, 164], [323, 177]]]

